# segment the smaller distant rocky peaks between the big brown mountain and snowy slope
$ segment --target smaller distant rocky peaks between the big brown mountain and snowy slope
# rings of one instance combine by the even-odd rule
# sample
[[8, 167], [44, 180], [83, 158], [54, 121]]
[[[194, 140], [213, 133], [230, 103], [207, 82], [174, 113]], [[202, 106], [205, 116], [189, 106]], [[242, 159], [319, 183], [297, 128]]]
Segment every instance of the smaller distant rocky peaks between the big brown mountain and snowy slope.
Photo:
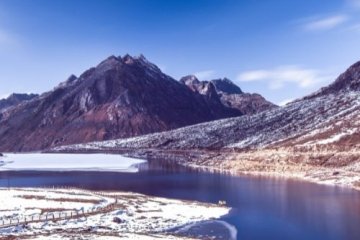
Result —
[[214, 88], [223, 105], [237, 109], [244, 115], [255, 114], [277, 107], [259, 94], [244, 93], [227, 78], [199, 81], [196, 76], [188, 75], [181, 78], [180, 82], [200, 94], [206, 94], [206, 89]]

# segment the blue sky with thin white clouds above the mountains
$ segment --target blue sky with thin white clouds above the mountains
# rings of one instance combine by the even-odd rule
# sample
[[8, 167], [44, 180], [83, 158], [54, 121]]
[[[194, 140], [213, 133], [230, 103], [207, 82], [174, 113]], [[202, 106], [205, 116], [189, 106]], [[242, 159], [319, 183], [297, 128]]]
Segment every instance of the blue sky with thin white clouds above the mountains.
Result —
[[126, 53], [279, 104], [360, 60], [360, 0], [0, 1], [0, 97], [50, 90]]

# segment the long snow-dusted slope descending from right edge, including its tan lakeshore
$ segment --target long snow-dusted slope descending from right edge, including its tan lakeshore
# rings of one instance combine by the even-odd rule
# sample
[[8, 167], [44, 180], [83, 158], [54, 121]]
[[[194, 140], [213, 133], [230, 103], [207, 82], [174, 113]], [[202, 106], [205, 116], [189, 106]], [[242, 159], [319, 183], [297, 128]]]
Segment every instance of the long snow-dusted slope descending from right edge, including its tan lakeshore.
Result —
[[360, 190], [359, 84], [360, 62], [329, 86], [284, 107], [53, 151], [122, 153], [195, 169], [290, 177]]

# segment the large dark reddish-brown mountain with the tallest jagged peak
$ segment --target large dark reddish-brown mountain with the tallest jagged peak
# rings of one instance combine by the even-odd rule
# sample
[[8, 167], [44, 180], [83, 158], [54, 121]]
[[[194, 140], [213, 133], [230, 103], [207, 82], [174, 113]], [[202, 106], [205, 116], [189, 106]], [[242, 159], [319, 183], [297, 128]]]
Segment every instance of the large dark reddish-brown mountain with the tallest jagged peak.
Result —
[[2, 113], [0, 150], [124, 138], [241, 115], [163, 74], [143, 56], [111, 56], [80, 77]]

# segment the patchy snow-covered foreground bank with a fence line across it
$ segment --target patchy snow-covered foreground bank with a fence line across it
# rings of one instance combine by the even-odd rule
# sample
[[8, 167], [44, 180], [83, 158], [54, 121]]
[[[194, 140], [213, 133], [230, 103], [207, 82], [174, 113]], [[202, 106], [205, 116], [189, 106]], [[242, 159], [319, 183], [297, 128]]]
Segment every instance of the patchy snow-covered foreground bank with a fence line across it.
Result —
[[[16, 188], [8, 190], [0, 188], [0, 224], [3, 219], [6, 221], [9, 217], [29, 217], [42, 211], [66, 211], [61, 210], [63, 208], [87, 210], [113, 203], [116, 203], [114, 209], [87, 217], [0, 227], [0, 236], [164, 234], [164, 231], [168, 229], [216, 219], [229, 212], [229, 208], [223, 206], [149, 197], [135, 193], [103, 192], [99, 194], [79, 189]], [[118, 221], [114, 221], [115, 218]], [[134, 239], [143, 238], [134, 237]], [[171, 238], [164, 237], [164, 239]]]

